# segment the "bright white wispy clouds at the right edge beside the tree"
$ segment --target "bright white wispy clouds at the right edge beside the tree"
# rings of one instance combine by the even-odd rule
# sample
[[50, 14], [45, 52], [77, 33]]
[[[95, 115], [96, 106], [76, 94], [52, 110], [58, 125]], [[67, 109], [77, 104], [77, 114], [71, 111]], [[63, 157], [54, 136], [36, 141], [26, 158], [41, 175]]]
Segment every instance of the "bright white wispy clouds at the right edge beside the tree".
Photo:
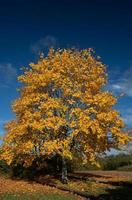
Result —
[[[116, 95], [125, 94], [125, 100], [132, 98], [132, 67], [127, 68], [124, 72], [121, 72], [120, 68], [110, 73], [110, 81], [108, 84], [108, 90], [112, 91]], [[132, 128], [132, 108], [129, 104], [120, 104], [119, 110], [122, 118], [127, 127]]]

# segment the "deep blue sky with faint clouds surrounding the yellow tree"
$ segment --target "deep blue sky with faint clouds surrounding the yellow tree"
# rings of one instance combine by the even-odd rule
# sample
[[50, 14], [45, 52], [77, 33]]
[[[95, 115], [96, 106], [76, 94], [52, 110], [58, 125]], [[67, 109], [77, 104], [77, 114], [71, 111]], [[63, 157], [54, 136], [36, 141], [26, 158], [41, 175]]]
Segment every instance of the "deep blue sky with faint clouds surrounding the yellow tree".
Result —
[[[108, 65], [114, 93], [125, 92], [117, 109], [132, 127], [131, 0], [0, 1], [0, 131], [13, 117], [19, 69], [50, 45], [93, 47]], [[17, 75], [16, 75], [17, 74]]]

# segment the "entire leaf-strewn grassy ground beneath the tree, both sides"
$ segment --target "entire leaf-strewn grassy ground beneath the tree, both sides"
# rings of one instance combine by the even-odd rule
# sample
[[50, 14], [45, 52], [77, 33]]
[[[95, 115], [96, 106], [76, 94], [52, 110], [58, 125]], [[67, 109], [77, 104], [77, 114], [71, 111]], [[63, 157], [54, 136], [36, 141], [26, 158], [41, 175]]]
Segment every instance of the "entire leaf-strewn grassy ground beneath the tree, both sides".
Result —
[[[132, 200], [132, 172], [89, 171], [69, 174], [68, 185], [51, 176], [38, 177], [40, 183], [54, 183], [89, 195], [90, 200]], [[0, 176], [0, 200], [83, 200], [84, 197], [35, 181]]]

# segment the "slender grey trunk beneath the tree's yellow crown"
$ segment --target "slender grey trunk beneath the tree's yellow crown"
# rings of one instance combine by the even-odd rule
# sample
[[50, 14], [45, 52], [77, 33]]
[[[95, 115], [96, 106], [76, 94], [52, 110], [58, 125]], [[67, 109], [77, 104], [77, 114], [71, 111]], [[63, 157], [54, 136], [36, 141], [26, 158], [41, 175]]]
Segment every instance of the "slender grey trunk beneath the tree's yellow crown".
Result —
[[68, 178], [67, 178], [67, 165], [66, 165], [66, 159], [64, 156], [62, 156], [62, 183], [67, 184]]

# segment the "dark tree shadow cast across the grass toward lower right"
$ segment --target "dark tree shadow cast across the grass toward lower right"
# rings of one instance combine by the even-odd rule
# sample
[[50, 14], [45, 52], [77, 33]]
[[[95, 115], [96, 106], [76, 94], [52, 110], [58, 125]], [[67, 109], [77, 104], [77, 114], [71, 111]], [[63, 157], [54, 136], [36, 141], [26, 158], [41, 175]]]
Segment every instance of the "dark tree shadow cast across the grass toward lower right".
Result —
[[[82, 175], [81, 173], [75, 173], [73, 175]], [[94, 178], [94, 177], [103, 177], [103, 175], [97, 175], [96, 174], [91, 174], [91, 173], [87, 173], [86, 178]], [[105, 176], [106, 177], [106, 176]], [[108, 177], [109, 178], [109, 177]], [[15, 180], [15, 178], [13, 178]], [[105, 183], [105, 184], [109, 184], [111, 186], [115, 186], [114, 189], [105, 189], [105, 193], [104, 194], [99, 194], [98, 196], [94, 196], [88, 194], [88, 192], [83, 192], [83, 191], [78, 191], [77, 188], [75, 188], [75, 190], [70, 189], [65, 187], [65, 185], [61, 185], [61, 186], [57, 186], [56, 180], [60, 179], [60, 175], [45, 175], [45, 176], [40, 176], [39, 179], [27, 179], [28, 182], [30, 182], [32, 184], [32, 182], [37, 182], [39, 184], [42, 185], [49, 185], [51, 187], [55, 187], [58, 188], [60, 190], [63, 191], [69, 191], [72, 192], [73, 194], [78, 194], [82, 197], [85, 197], [86, 199], [89, 200], [132, 200], [132, 183], [129, 182], [125, 182], [125, 181], [107, 181], [107, 182], [103, 182], [103, 181], [99, 181], [99, 183]], [[75, 177], [71, 177], [71, 180], [77, 181], [77, 179]], [[81, 178], [79, 178], [81, 180]], [[18, 180], [18, 179], [17, 179]], [[21, 180], [21, 179], [20, 179]]]

